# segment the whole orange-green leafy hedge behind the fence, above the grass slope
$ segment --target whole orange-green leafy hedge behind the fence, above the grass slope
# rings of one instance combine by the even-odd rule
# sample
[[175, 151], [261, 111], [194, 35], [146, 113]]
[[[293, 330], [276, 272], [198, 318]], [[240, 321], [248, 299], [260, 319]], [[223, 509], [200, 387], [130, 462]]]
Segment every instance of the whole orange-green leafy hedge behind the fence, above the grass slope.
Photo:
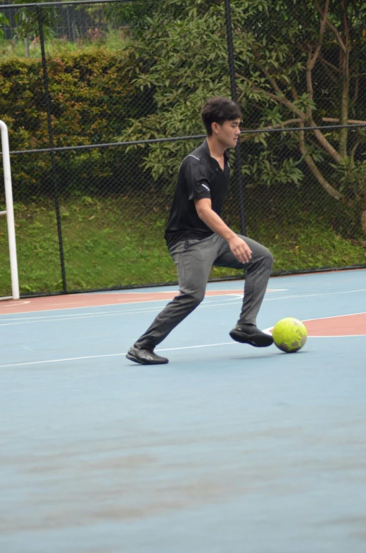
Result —
[[[47, 60], [55, 147], [115, 142], [128, 118], [149, 111], [151, 92], [132, 89], [130, 59], [127, 50], [96, 48]], [[0, 118], [8, 125], [12, 151], [49, 147], [40, 59], [0, 63]], [[58, 155], [60, 192], [120, 192], [116, 169], [131, 155], [125, 149]], [[18, 154], [11, 162], [15, 199], [51, 195], [49, 154]]]

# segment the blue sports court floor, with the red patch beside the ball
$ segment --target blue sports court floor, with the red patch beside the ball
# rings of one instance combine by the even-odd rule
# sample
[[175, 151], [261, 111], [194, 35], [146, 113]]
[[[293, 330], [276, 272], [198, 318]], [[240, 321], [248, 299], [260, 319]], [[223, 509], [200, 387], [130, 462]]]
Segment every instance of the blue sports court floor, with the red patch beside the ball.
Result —
[[366, 271], [270, 280], [258, 326], [305, 321], [296, 354], [232, 342], [242, 286], [162, 366], [125, 352], [175, 287], [0, 316], [1, 553], [366, 552]]

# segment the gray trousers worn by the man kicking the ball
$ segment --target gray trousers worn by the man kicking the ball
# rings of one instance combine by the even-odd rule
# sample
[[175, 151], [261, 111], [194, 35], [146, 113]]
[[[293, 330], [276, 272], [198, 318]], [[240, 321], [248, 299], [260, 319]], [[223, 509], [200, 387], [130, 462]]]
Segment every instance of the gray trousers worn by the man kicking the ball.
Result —
[[270, 278], [273, 258], [270, 251], [258, 242], [244, 236], [241, 238], [252, 251], [249, 263], [240, 263], [227, 241], [217, 234], [203, 240], [184, 240], [169, 250], [177, 266], [179, 294], [160, 311], [146, 333], [135, 342], [137, 347], [153, 349], [196, 309], [205, 297], [212, 266], [245, 269], [244, 299], [238, 324], [255, 325]]

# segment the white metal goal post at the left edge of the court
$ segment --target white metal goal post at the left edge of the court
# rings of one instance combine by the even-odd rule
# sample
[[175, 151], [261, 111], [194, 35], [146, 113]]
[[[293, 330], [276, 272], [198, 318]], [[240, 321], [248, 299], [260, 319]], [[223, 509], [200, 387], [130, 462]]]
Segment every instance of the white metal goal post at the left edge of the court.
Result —
[[6, 201], [6, 211], [0, 211], [0, 216], [5, 215], [8, 220], [11, 293], [13, 294], [12, 296], [1, 297], [0, 299], [19, 299], [20, 294], [19, 294], [19, 278], [18, 278], [18, 261], [16, 258], [13, 189], [11, 187], [11, 166], [10, 166], [10, 154], [9, 154], [8, 128], [6, 127], [6, 124], [4, 123], [4, 121], [1, 121], [1, 120], [0, 120], [0, 130], [1, 130], [1, 148], [3, 152], [5, 201]]

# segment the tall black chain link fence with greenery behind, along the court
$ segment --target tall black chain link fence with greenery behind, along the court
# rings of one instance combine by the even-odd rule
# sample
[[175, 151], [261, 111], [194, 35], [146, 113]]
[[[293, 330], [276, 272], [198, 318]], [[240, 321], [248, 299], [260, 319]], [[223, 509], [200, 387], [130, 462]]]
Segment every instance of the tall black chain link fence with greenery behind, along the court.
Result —
[[[175, 282], [165, 223], [179, 164], [204, 138], [200, 108], [215, 95], [233, 97], [243, 113], [227, 223], [271, 249], [274, 273], [364, 266], [359, 4], [0, 6], [0, 118], [11, 142], [21, 293]], [[0, 211], [4, 203], [0, 189]], [[0, 238], [8, 295], [4, 218]]]

